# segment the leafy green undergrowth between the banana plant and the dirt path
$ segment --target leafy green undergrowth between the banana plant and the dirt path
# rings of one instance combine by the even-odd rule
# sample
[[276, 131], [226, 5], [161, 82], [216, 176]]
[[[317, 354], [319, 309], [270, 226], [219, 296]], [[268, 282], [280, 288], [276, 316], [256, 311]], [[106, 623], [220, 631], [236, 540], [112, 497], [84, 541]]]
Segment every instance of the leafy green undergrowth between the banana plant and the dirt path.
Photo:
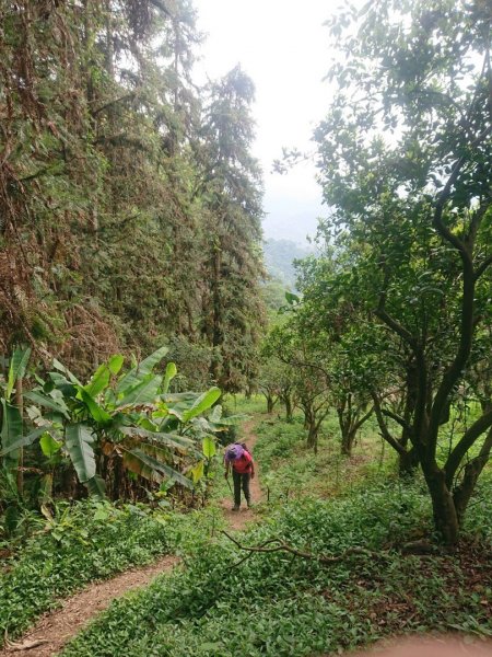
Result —
[[[19, 636], [43, 612], [87, 583], [166, 553], [183, 554], [197, 531], [220, 525], [218, 514], [152, 511], [143, 505], [59, 503], [54, 518], [0, 562], [0, 636]], [[192, 537], [187, 528], [194, 527]]]

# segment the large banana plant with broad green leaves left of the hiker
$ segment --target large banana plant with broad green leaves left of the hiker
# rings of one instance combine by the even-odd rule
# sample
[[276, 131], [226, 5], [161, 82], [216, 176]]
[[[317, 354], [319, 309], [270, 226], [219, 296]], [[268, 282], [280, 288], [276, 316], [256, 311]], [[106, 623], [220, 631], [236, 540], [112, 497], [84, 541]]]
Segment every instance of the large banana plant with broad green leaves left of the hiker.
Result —
[[2, 443], [0, 456], [49, 435], [54, 442], [45, 438], [45, 449], [60, 445], [91, 494], [104, 495], [97, 465], [102, 454], [120, 460], [124, 469], [150, 482], [171, 479], [192, 487], [183, 470], [186, 461], [200, 459], [196, 423], [221, 391], [171, 394], [176, 366], [168, 362], [164, 376], [154, 371], [166, 353], [166, 347], [157, 349], [126, 373], [121, 373], [124, 357], [115, 355], [85, 384], [54, 360], [47, 379], [38, 379], [38, 385], [25, 394], [34, 404], [31, 414], [37, 428]]

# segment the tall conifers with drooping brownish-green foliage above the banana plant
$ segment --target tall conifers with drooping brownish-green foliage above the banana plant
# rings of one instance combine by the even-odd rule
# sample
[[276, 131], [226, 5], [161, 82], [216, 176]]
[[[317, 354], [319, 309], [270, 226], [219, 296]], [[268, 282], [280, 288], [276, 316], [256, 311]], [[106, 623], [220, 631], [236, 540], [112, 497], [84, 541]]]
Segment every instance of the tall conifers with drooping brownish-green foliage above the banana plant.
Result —
[[0, 0], [0, 353], [86, 373], [168, 343], [239, 388], [262, 316], [251, 81], [194, 84], [189, 0]]

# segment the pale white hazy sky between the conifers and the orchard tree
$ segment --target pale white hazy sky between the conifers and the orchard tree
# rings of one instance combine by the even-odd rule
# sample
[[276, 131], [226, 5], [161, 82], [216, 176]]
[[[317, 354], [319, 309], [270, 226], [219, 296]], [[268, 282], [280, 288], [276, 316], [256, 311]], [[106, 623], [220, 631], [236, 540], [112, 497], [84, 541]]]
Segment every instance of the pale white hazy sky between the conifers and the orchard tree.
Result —
[[241, 62], [256, 85], [255, 155], [266, 183], [267, 238], [302, 241], [315, 231], [320, 188], [313, 164], [285, 176], [271, 173], [282, 146], [314, 150], [313, 126], [323, 118], [329, 90], [328, 31], [333, 4], [326, 0], [195, 0], [198, 27], [208, 34], [202, 61], [210, 78]]

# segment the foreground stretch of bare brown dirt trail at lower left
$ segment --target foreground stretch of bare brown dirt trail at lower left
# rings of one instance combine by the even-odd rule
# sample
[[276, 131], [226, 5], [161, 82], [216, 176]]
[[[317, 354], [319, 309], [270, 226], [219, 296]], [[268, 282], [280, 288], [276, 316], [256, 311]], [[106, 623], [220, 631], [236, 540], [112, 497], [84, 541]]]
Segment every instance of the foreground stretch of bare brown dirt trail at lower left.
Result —
[[132, 568], [113, 579], [91, 584], [80, 593], [66, 600], [61, 609], [43, 615], [22, 639], [0, 649], [0, 657], [26, 655], [50, 657], [101, 613], [109, 603], [127, 591], [148, 586], [161, 573], [171, 570], [177, 563], [175, 556], [164, 556], [143, 568]]

